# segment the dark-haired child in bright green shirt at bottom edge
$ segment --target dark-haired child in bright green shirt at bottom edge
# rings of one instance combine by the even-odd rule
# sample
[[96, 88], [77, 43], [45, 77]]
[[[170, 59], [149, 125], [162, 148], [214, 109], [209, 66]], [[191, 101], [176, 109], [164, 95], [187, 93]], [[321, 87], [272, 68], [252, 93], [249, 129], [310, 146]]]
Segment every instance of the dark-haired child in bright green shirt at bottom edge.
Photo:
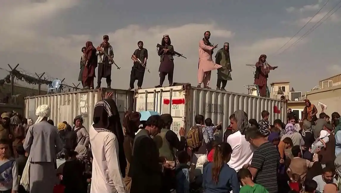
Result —
[[268, 193], [262, 185], [253, 182], [252, 174], [248, 169], [240, 169], [238, 171], [238, 178], [242, 186], [240, 193]]

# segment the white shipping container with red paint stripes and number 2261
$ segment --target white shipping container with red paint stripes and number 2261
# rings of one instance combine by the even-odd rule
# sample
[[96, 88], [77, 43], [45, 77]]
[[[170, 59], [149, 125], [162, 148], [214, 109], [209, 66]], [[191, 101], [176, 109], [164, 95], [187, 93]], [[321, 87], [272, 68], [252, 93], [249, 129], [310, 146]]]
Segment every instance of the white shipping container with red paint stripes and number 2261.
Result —
[[285, 101], [239, 94], [228, 91], [211, 90], [182, 86], [139, 89], [135, 91], [136, 111], [157, 111], [169, 113], [173, 117], [172, 130], [178, 134], [180, 127], [195, 125], [194, 117], [203, 115], [211, 118], [214, 124], [229, 125], [229, 116], [236, 110], [244, 110], [249, 119], [261, 120], [261, 112], [270, 112], [269, 121], [286, 120]]

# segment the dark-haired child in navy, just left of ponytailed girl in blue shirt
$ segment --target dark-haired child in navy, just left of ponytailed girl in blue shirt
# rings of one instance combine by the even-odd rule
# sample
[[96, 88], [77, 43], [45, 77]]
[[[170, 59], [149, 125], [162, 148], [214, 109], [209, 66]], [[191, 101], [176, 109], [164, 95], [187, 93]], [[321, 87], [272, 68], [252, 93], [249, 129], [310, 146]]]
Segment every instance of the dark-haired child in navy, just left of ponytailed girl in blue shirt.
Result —
[[179, 151], [177, 153], [178, 164], [175, 167], [176, 192], [189, 193], [190, 192], [190, 169], [187, 162], [189, 155], [186, 151]]

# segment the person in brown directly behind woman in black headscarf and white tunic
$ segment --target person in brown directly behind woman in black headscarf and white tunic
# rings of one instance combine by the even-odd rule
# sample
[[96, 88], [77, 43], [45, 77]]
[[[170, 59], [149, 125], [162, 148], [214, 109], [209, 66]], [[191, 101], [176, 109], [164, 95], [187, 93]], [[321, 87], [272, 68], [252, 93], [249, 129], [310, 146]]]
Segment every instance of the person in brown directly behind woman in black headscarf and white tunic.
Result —
[[125, 130], [125, 137], [123, 142], [124, 154], [127, 158], [127, 167], [125, 170], [124, 183], [127, 188], [127, 193], [130, 192], [131, 177], [128, 176], [129, 166], [133, 159], [133, 143], [135, 133], [138, 131], [140, 125], [141, 114], [139, 112], [127, 111], [124, 113], [123, 127]]

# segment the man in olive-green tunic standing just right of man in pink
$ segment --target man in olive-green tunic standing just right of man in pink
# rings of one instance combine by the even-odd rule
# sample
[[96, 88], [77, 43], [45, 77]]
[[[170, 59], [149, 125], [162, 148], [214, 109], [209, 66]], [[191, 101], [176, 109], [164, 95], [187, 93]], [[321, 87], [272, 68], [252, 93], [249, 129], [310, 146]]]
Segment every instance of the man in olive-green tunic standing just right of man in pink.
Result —
[[[227, 81], [232, 81], [231, 77], [231, 60], [230, 60], [230, 51], [229, 51], [229, 43], [225, 42], [224, 47], [219, 49], [216, 54], [216, 64], [221, 65], [222, 67], [218, 69], [218, 77], [217, 77], [217, 90], [225, 90], [225, 86]], [[223, 84], [221, 86], [221, 84]], [[221, 86], [221, 87], [220, 87]]]

